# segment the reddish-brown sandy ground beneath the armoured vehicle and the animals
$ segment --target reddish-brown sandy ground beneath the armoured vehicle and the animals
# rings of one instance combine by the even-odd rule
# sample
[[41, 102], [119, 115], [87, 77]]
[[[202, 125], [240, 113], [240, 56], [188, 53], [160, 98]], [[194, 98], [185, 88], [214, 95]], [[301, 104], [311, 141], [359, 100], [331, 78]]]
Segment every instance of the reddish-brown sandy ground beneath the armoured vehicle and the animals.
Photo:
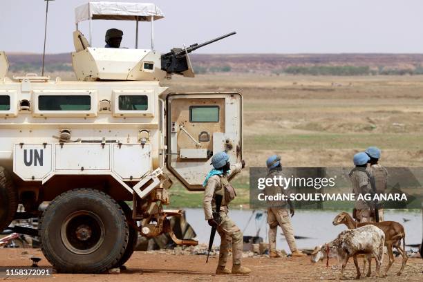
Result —
[[[6, 250], [0, 249], [0, 265], [2, 267], [28, 267], [30, 257], [42, 258], [40, 266], [48, 266], [40, 250]], [[267, 257], [245, 258], [243, 264], [252, 269], [250, 276], [216, 276], [214, 270], [217, 256], [212, 256], [209, 263], [205, 264], [205, 256], [199, 255], [173, 255], [163, 252], [135, 252], [126, 263], [126, 271], [120, 274], [53, 274], [50, 279], [54, 281], [330, 281], [337, 280], [339, 269], [337, 261], [330, 260], [330, 267], [326, 263], [313, 264], [309, 257], [305, 258], [280, 258], [268, 259]], [[386, 265], [386, 257], [385, 263]], [[362, 264], [362, 259], [359, 259]], [[382, 268], [384, 268], [382, 265]], [[393, 267], [385, 278], [365, 278], [366, 281], [422, 281], [423, 260], [408, 259], [402, 276], [397, 276], [400, 269], [400, 257], [395, 260]], [[374, 263], [373, 263], [374, 270]], [[0, 274], [0, 277], [4, 273]], [[347, 280], [355, 277], [353, 261], [349, 261], [345, 272]], [[0, 278], [3, 279], [3, 278]], [[46, 281], [46, 278], [31, 277], [30, 281]], [[22, 279], [5, 279], [6, 281], [19, 281]], [[47, 280], [48, 281], [48, 280]]]

